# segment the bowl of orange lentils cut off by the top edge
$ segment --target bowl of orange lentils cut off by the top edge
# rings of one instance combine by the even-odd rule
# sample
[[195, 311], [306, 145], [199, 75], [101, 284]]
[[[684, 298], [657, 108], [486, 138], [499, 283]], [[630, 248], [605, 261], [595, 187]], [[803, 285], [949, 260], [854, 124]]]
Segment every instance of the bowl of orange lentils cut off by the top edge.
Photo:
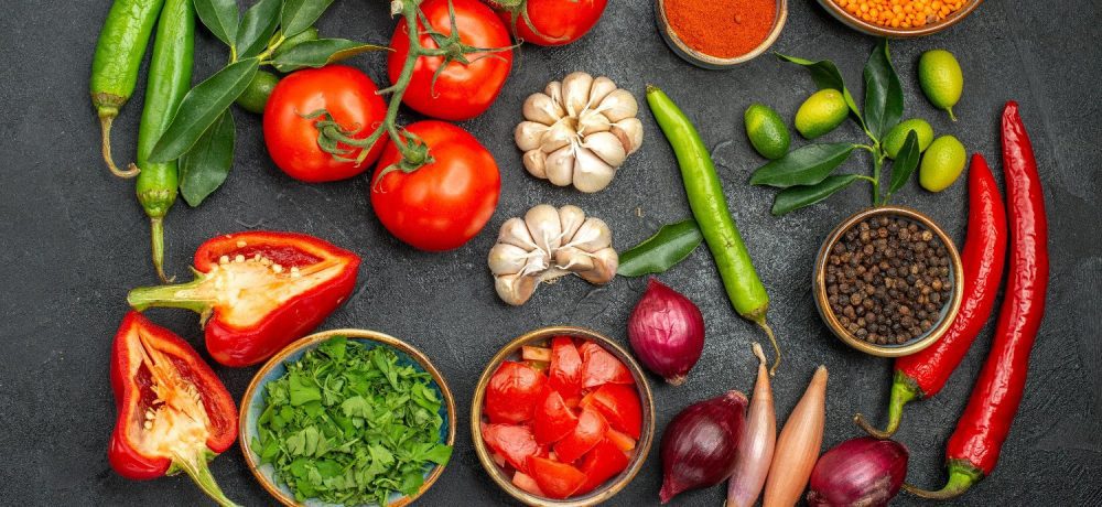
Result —
[[908, 39], [957, 24], [983, 0], [819, 0], [819, 3], [858, 32]]

